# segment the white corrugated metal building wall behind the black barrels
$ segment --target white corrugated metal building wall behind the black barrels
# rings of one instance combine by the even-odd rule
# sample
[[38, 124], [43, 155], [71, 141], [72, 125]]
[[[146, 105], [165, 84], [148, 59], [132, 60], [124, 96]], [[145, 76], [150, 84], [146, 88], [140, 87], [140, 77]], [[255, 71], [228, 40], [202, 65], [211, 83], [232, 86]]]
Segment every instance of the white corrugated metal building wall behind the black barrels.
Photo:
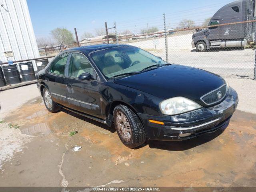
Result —
[[40, 56], [26, 0], [0, 0], [0, 62], [7, 62], [5, 51], [14, 61]]

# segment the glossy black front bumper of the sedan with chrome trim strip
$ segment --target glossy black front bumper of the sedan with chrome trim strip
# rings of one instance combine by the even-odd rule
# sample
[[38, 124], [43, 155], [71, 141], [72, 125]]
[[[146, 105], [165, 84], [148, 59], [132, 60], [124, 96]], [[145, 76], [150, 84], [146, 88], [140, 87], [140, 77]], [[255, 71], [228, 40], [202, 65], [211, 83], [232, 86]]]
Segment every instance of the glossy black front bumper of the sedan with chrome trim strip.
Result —
[[[138, 114], [150, 140], [186, 140], [207, 132], [214, 132], [229, 122], [238, 104], [238, 95], [232, 88], [226, 98], [219, 104], [208, 108], [200, 108], [174, 116], [151, 116]], [[148, 120], [164, 122], [164, 125], [154, 124]], [[191, 133], [191, 134], [190, 134]], [[183, 134], [183, 135], [180, 135]], [[184, 134], [190, 134], [184, 136]]]

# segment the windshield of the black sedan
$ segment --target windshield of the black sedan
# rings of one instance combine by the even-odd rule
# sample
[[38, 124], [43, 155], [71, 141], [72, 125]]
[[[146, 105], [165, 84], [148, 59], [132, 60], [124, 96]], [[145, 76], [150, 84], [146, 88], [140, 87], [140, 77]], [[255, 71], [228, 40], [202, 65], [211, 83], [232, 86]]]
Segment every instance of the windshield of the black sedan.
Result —
[[92, 52], [91, 57], [107, 78], [140, 72], [153, 65], [167, 64], [149, 52], [132, 46], [120, 46]]

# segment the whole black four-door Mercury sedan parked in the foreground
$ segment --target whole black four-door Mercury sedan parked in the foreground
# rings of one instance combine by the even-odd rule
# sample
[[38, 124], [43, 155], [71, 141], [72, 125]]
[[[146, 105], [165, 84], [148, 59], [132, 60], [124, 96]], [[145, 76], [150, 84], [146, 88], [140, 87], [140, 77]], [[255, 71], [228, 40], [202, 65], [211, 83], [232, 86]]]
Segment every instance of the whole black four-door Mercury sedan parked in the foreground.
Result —
[[224, 126], [236, 91], [216, 74], [166, 63], [140, 48], [102, 44], [58, 54], [37, 74], [50, 112], [61, 108], [114, 126], [124, 145], [185, 140]]

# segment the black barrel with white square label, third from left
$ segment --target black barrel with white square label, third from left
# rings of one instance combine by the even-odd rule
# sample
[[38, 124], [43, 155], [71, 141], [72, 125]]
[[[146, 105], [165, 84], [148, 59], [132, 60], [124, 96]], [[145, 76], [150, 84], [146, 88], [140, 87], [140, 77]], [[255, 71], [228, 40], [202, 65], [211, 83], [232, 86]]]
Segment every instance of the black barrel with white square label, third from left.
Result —
[[32, 81], [36, 79], [36, 74], [32, 62], [19, 63], [19, 66], [23, 81]]

